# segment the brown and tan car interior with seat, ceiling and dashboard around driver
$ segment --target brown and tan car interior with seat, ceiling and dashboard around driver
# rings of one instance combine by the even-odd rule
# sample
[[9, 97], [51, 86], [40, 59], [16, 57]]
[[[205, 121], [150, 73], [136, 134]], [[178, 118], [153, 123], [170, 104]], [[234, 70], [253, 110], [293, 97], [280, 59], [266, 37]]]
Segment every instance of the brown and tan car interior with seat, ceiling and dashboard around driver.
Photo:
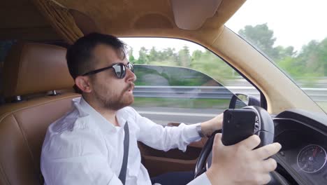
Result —
[[[275, 184], [326, 184], [327, 117], [270, 60], [224, 24], [245, 0], [12, 0], [0, 6], [0, 184], [43, 184], [41, 147], [50, 123], [73, 109], [66, 48], [90, 32], [163, 37], [198, 43], [218, 55], [260, 92], [282, 144]], [[4, 53], [4, 52], [3, 52]], [[3, 61], [1, 61], [3, 60]], [[176, 126], [180, 123], [168, 123]], [[208, 138], [187, 151], [138, 143], [150, 177], [194, 171]], [[317, 166], [306, 162], [317, 154]], [[318, 163], [317, 162], [317, 163]], [[206, 163], [206, 160], [205, 160]], [[314, 163], [316, 165], [316, 163]], [[303, 167], [304, 166], [304, 167]]]

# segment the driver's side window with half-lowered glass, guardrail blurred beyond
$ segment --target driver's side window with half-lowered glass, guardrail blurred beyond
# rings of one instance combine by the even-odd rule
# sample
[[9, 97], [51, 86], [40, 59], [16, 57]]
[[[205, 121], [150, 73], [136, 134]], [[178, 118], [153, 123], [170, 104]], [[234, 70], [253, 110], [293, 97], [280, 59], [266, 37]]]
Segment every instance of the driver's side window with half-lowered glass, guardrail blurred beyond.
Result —
[[260, 98], [258, 90], [238, 72], [195, 43], [159, 38], [122, 40], [130, 47], [129, 61], [136, 64], [132, 107], [156, 123], [208, 121], [228, 109], [233, 93]]

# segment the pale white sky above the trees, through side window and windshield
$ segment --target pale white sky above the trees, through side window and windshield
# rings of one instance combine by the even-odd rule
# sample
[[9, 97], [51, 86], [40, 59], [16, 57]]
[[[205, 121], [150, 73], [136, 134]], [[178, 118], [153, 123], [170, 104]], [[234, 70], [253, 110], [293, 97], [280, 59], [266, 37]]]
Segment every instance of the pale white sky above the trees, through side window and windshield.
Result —
[[[275, 46], [293, 46], [295, 50], [309, 41], [321, 41], [327, 37], [327, 1], [326, 0], [247, 0], [245, 4], [226, 22], [226, 26], [237, 33], [245, 25], [260, 25], [267, 23], [273, 29], [276, 38]], [[175, 48], [180, 50], [189, 46], [194, 50], [204, 50], [202, 46], [189, 41], [177, 39], [139, 39], [122, 38], [134, 49], [134, 57], [138, 57], [138, 50], [142, 46], [151, 49], [155, 46]]]

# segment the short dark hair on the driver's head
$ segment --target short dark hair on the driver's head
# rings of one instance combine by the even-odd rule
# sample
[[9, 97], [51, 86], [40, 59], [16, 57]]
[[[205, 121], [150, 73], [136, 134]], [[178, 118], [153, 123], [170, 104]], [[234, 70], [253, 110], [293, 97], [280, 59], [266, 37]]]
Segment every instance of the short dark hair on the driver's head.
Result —
[[111, 46], [117, 54], [126, 57], [126, 44], [116, 36], [108, 34], [91, 33], [81, 37], [67, 50], [66, 60], [69, 73], [75, 79], [77, 76], [94, 70], [93, 50], [99, 44]]

